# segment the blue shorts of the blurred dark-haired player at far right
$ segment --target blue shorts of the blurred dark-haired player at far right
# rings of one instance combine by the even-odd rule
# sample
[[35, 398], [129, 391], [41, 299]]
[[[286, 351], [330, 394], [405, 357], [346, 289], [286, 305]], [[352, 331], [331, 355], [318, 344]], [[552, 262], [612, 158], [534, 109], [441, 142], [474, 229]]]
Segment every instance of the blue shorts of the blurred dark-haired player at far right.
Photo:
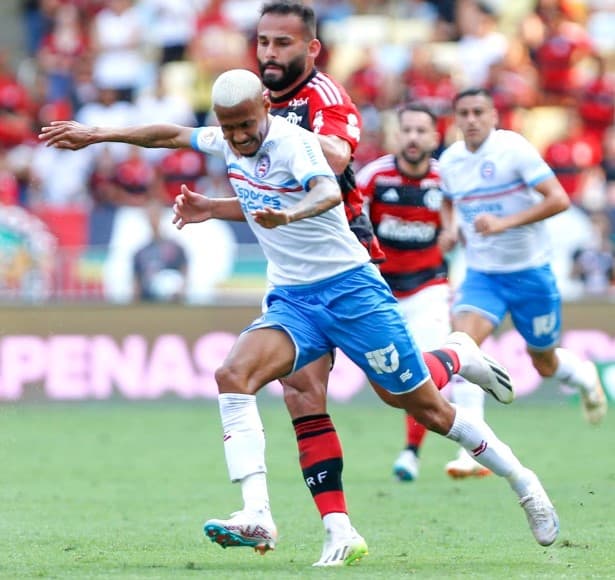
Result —
[[477, 312], [496, 327], [510, 312], [531, 350], [549, 350], [560, 341], [561, 298], [550, 266], [503, 274], [468, 270], [452, 311]]

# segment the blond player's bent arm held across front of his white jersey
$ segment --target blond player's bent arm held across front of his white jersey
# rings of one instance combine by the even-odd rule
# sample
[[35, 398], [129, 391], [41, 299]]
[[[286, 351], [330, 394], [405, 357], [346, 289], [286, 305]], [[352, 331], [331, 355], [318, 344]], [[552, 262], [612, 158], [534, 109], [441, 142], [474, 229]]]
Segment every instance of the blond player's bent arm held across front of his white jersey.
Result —
[[317, 176], [310, 179], [309, 193], [299, 202], [283, 210], [270, 207], [252, 212], [254, 221], [264, 228], [275, 228], [324, 213], [342, 202], [342, 192], [331, 177]]

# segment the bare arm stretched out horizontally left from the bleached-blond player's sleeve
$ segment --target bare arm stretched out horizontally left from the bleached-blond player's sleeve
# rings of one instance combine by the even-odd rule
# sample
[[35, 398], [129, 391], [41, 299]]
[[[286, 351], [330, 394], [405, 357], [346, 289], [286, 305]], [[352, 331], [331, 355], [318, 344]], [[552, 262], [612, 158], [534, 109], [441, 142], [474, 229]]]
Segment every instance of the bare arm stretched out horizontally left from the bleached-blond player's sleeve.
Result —
[[120, 142], [139, 147], [177, 149], [190, 147], [193, 127], [156, 124], [135, 127], [91, 127], [76, 121], [53, 121], [41, 129], [39, 139], [48, 147], [83, 149], [94, 143]]

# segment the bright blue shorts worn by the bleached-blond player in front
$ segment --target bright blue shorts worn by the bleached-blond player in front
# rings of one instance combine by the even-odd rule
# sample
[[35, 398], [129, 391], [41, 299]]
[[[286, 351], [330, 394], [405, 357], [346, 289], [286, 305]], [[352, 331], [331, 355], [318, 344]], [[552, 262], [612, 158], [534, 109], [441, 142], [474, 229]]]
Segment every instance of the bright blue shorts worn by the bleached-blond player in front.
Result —
[[314, 284], [277, 286], [266, 303], [244, 332], [284, 330], [295, 344], [293, 372], [339, 347], [391, 393], [412, 391], [429, 377], [397, 301], [371, 264]]

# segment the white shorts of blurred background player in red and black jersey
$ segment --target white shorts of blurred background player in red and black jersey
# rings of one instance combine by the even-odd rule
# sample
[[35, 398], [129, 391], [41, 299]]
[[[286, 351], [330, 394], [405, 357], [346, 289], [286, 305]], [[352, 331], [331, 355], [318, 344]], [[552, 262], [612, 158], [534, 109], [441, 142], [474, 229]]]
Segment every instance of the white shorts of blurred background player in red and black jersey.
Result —
[[418, 347], [423, 351], [440, 347], [451, 332], [448, 284], [427, 286], [398, 301]]

